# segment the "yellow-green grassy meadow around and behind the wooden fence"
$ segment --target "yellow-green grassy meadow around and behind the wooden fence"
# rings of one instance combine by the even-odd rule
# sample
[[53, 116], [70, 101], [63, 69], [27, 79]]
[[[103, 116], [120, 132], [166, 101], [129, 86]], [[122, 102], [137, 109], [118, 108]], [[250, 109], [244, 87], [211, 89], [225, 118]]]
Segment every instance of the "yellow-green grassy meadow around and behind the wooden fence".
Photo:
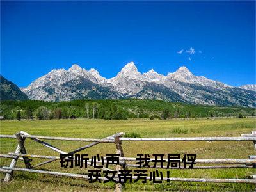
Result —
[[[191, 136], [240, 136], [255, 130], [255, 118], [230, 118], [208, 120], [42, 120], [42, 121], [2, 121], [1, 134], [15, 134], [26, 131], [29, 134], [44, 136], [67, 136], [74, 138], [104, 138], [117, 132], [136, 132], [141, 137], [191, 137]], [[179, 129], [178, 129], [179, 128]], [[174, 130], [182, 131], [174, 131]], [[50, 141], [52, 145], [65, 151], [82, 147], [85, 143], [77, 141]], [[14, 152], [17, 145], [15, 140], [0, 140], [1, 154]], [[44, 154], [58, 156], [49, 148], [45, 148], [35, 141], [26, 140], [28, 154]], [[136, 154], [196, 154], [197, 159], [217, 158], [248, 158], [255, 154], [252, 141], [154, 141], [131, 142], [123, 141], [126, 157], [136, 157]], [[113, 143], [101, 143], [88, 148], [81, 154], [115, 154]], [[33, 159], [32, 164], [40, 163], [44, 159]], [[10, 159], [0, 159], [1, 166], [8, 166]], [[205, 165], [205, 164], [198, 164]], [[19, 161], [17, 166], [24, 167]], [[85, 168], [61, 168], [60, 163], [46, 164], [44, 170], [57, 172], [86, 173]], [[151, 169], [152, 170], [152, 169]], [[164, 170], [163, 170], [164, 172]], [[241, 178], [255, 173], [253, 169], [212, 169], [212, 170], [172, 170], [172, 177], [197, 178]], [[1, 173], [1, 179], [4, 174]], [[1, 191], [113, 191], [115, 184], [90, 184], [86, 180], [67, 177], [54, 177], [28, 172], [15, 172], [13, 180], [8, 183], [1, 182]], [[163, 182], [163, 184], [125, 184], [126, 191], [254, 191], [253, 184], [213, 184], [199, 182]]]

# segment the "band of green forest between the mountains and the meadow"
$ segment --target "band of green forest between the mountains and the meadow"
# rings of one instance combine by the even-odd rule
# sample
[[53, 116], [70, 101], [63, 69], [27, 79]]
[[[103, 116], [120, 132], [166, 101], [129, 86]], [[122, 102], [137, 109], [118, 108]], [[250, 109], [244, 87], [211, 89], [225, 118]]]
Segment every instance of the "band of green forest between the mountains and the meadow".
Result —
[[2, 101], [0, 115], [4, 119], [60, 118], [202, 118], [217, 116], [254, 116], [254, 108], [200, 106], [162, 100], [72, 100], [44, 102], [38, 100]]

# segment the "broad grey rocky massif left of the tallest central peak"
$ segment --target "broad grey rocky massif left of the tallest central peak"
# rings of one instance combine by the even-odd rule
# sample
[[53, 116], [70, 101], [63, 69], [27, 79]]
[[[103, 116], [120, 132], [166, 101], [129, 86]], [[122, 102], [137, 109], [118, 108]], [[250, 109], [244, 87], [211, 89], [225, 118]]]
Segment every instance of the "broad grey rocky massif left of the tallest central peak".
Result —
[[108, 84], [97, 70], [87, 71], [76, 64], [68, 70], [52, 70], [22, 91], [30, 99], [45, 101], [122, 98], [122, 94], [114, 91], [111, 84]]

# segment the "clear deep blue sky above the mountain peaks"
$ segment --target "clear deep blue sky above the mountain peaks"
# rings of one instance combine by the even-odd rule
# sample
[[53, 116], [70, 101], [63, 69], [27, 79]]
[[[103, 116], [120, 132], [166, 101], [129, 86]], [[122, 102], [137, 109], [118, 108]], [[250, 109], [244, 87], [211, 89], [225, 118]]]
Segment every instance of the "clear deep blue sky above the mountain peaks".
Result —
[[255, 84], [255, 1], [1, 1], [1, 74], [18, 86], [73, 63], [110, 78], [130, 61]]

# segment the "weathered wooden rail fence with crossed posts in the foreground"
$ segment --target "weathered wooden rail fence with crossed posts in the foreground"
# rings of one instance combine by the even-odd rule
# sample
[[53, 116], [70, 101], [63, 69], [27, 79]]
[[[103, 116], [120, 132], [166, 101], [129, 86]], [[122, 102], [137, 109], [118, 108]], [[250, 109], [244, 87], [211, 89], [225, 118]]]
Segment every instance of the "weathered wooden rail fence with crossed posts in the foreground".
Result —
[[[122, 141], [253, 141], [254, 147], [256, 149], [256, 131], [252, 131], [251, 134], [241, 134], [239, 137], [194, 137], [194, 138], [124, 138], [124, 133], [120, 132], [118, 134], [114, 134], [112, 136], [108, 136], [103, 139], [92, 139], [92, 138], [67, 138], [67, 137], [51, 137], [51, 136], [36, 136], [28, 134], [24, 131], [20, 131], [15, 135], [0, 135], [0, 138], [13, 138], [17, 140], [17, 148], [15, 152], [10, 152], [8, 154], [0, 154], [0, 157], [10, 158], [12, 159], [10, 166], [2, 166], [0, 168], [0, 172], [6, 173], [4, 177], [4, 182], [10, 181], [12, 179], [13, 171], [21, 171], [21, 172], [33, 172], [33, 173], [43, 173], [49, 175], [59, 175], [59, 176], [67, 176], [67, 177], [76, 177], [82, 179], [88, 179], [88, 175], [82, 174], [74, 174], [74, 173], [62, 173], [62, 172], [52, 172], [46, 170], [37, 170], [35, 169], [38, 166], [42, 166], [47, 163], [51, 163], [53, 161], [60, 160], [60, 156], [42, 156], [36, 154], [27, 154], [26, 148], [24, 146], [24, 141], [26, 138], [30, 138], [37, 143], [44, 145], [47, 148], [51, 148], [55, 152], [59, 154], [76, 154], [77, 152], [81, 152], [86, 148], [92, 147], [94, 145], [98, 145], [99, 143], [115, 143], [116, 145], [116, 154], [120, 155], [120, 164], [116, 165], [116, 170], [122, 169], [122, 164], [124, 167], [137, 167], [136, 164], [128, 164], [127, 161], [137, 161], [134, 157], [124, 157], [124, 151], [122, 148]], [[61, 140], [61, 141], [82, 141], [82, 142], [93, 142], [88, 145], [84, 145], [83, 147], [77, 148], [71, 152], [65, 152], [60, 148], [54, 147], [53, 145], [42, 141], [43, 140]], [[195, 166], [193, 168], [168, 168], [167, 166], [155, 168], [165, 168], [165, 169], [212, 169], [212, 168], [256, 168], [256, 156], [250, 155], [248, 159], [196, 159], [195, 163], [198, 164], [228, 164], [228, 165], [214, 165], [214, 166]], [[35, 164], [31, 166], [31, 159], [29, 158], [39, 158], [39, 159], [47, 159], [39, 164]], [[16, 163], [18, 160], [24, 161], [26, 168], [17, 168]], [[154, 159], [150, 159], [152, 161]], [[167, 161], [167, 159], [163, 159]], [[177, 159], [175, 159], [177, 160]], [[82, 160], [81, 160], [82, 161]], [[181, 161], [181, 159], [180, 159]], [[91, 166], [91, 161], [87, 161], [87, 164]], [[104, 162], [106, 162], [106, 157], [104, 157]], [[230, 165], [232, 164], [232, 165]], [[147, 167], [145, 167], [147, 168]], [[110, 170], [109, 168], [100, 168], [102, 170]], [[132, 179], [136, 179], [137, 177], [132, 177]], [[156, 180], [170, 180], [170, 181], [183, 181], [183, 182], [228, 182], [228, 183], [250, 183], [256, 184], [256, 175], [252, 175], [251, 179], [210, 179], [210, 178], [182, 178], [182, 177], [156, 177]], [[101, 180], [106, 180], [104, 177], [100, 177]], [[147, 177], [149, 180], [150, 177]], [[118, 181], [118, 178], [115, 177], [115, 180]], [[116, 184], [116, 191], [122, 190], [122, 184]]]

